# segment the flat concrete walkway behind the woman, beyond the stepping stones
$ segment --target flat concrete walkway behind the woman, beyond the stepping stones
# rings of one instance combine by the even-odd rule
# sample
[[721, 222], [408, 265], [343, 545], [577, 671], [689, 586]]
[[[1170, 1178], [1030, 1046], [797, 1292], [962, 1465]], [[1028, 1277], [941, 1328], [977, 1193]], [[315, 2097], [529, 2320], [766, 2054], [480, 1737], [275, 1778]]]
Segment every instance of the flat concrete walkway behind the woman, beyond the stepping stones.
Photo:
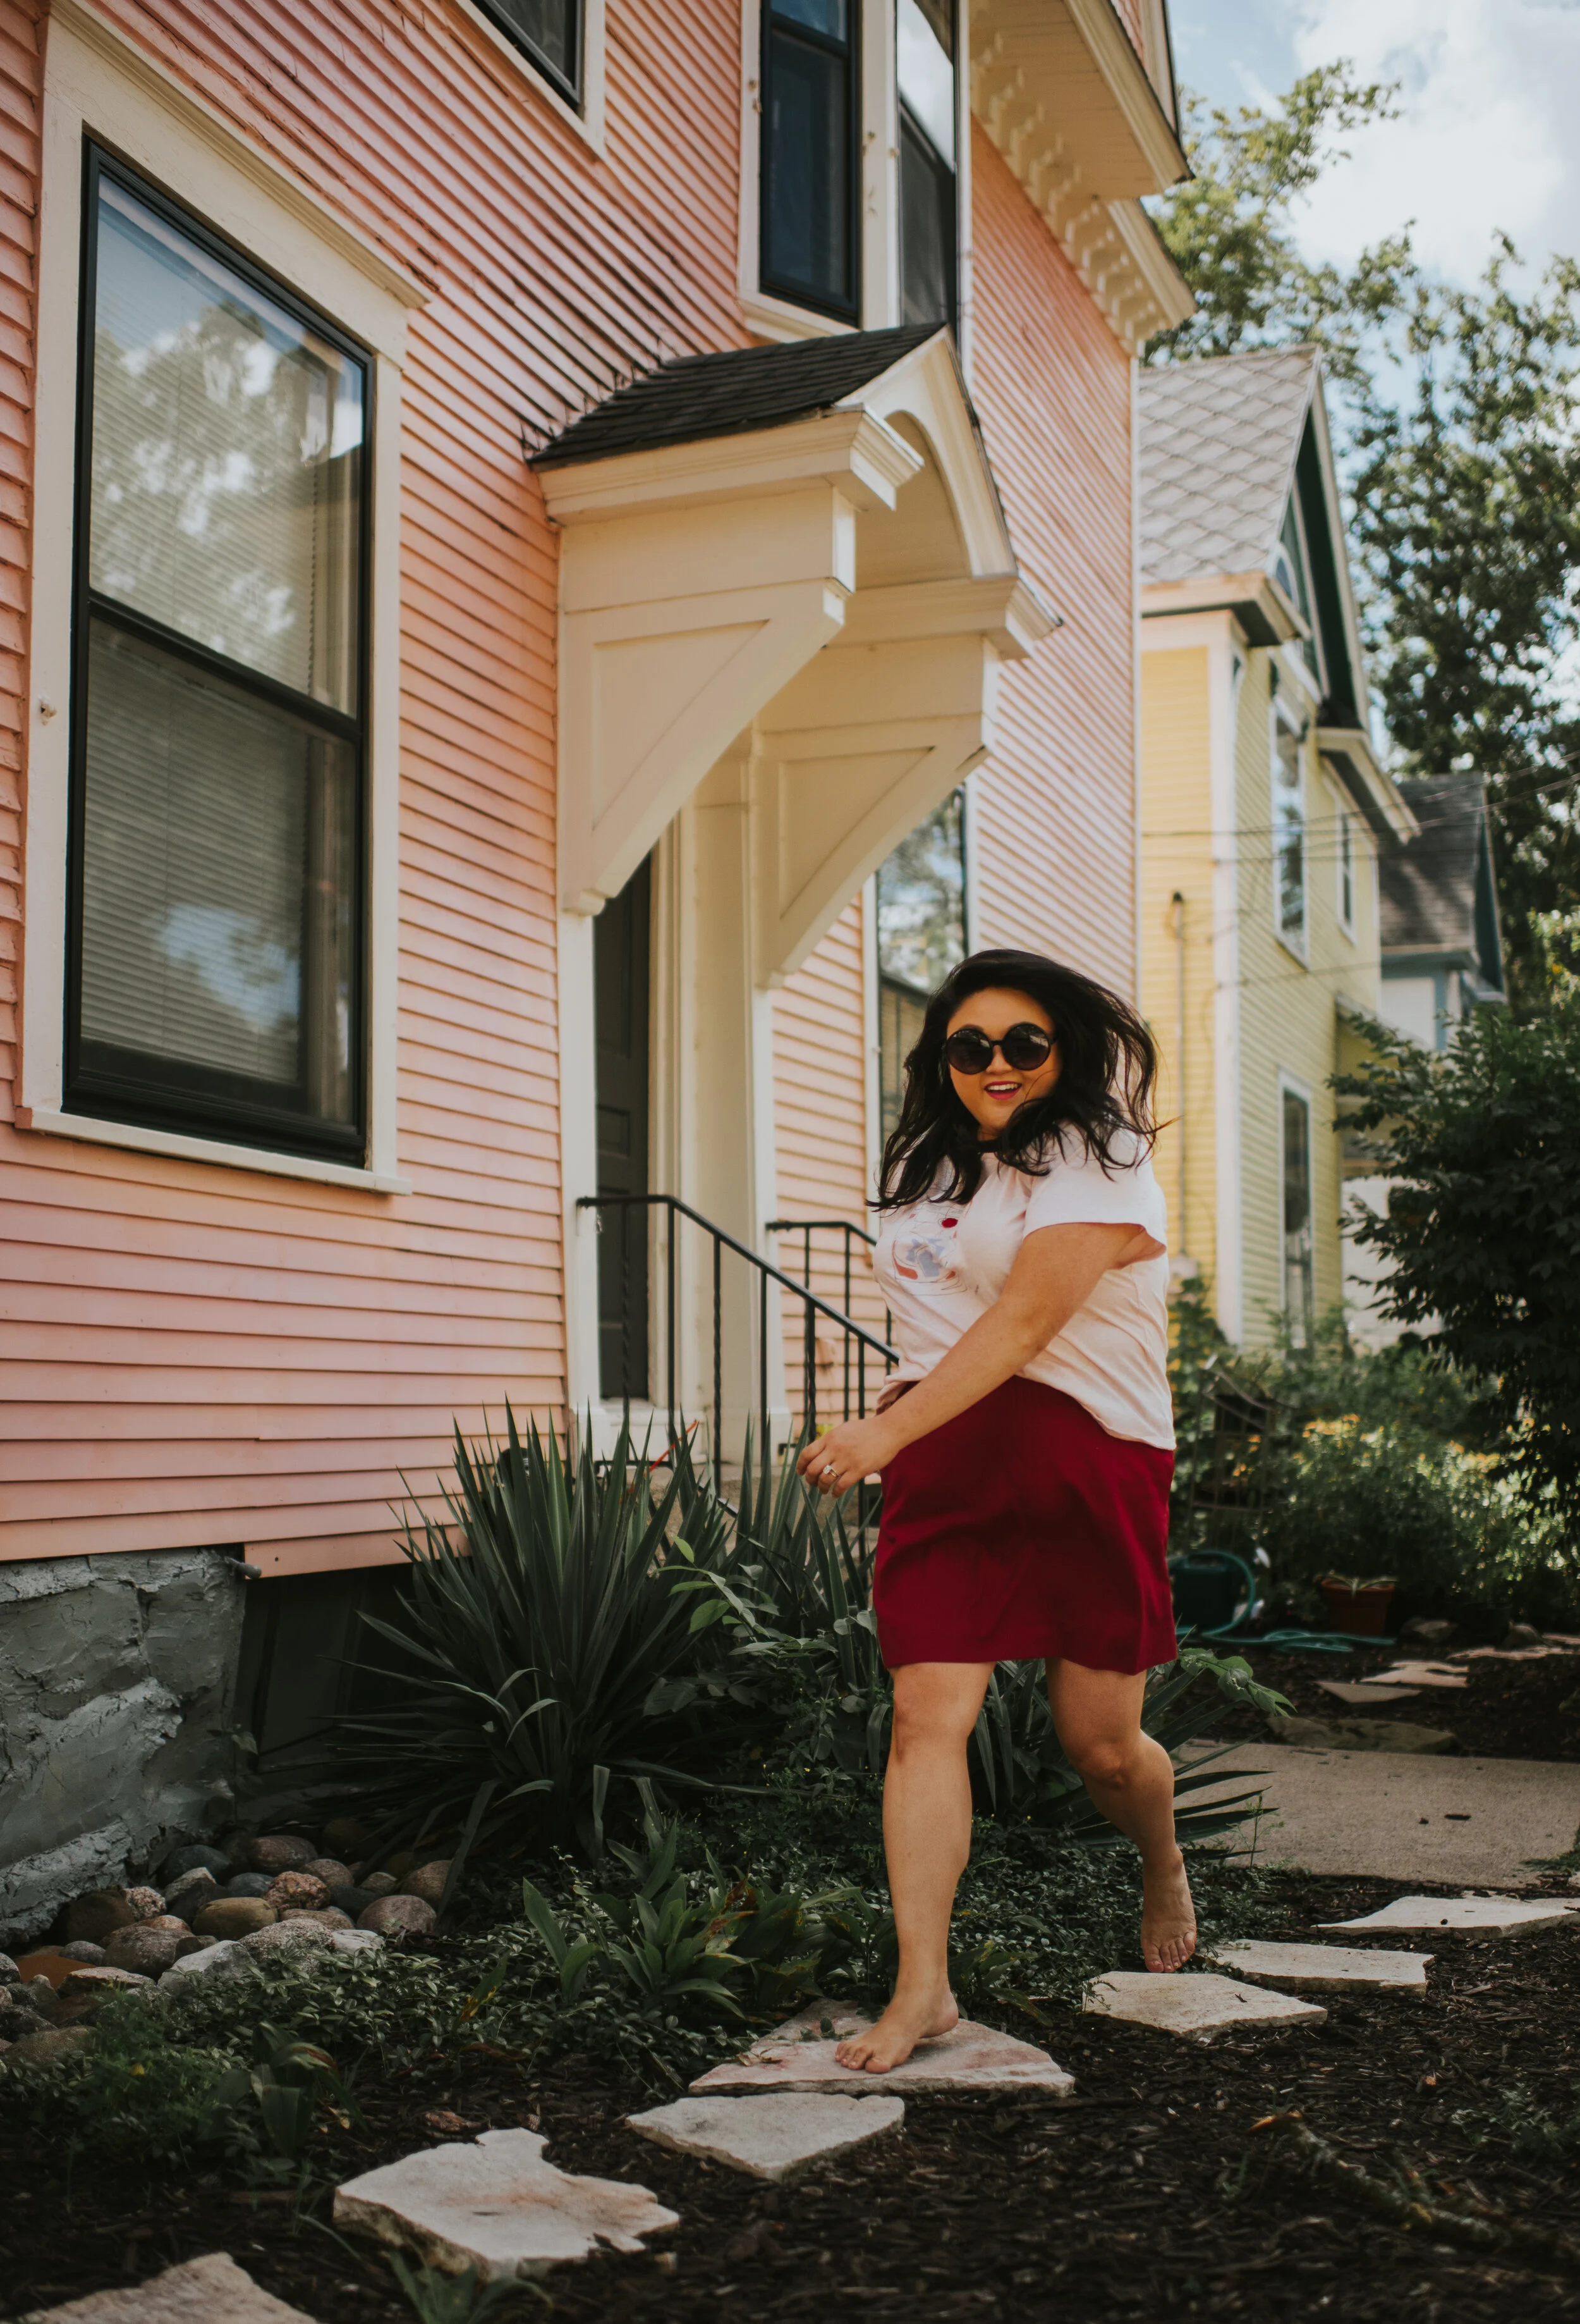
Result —
[[1552, 1759], [1417, 1759], [1243, 1743], [1215, 1773], [1266, 1771], [1257, 1855], [1310, 1873], [1517, 1887], [1531, 1857], [1580, 1831], [1580, 1766]]

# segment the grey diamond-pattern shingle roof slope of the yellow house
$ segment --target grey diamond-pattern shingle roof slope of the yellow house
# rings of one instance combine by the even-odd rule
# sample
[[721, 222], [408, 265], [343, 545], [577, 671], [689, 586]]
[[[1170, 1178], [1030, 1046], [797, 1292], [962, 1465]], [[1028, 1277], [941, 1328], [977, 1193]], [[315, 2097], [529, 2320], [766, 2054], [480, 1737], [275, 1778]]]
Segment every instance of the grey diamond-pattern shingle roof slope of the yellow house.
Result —
[[1280, 346], [1141, 372], [1141, 579], [1271, 569], [1317, 356]]

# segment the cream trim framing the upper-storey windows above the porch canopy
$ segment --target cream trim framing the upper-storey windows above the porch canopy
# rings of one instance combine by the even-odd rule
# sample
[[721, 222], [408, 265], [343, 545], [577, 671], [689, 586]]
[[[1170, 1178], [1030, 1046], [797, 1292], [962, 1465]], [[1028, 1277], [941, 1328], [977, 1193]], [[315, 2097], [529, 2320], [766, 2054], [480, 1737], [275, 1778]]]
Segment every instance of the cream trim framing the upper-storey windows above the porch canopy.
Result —
[[[960, 360], [967, 367], [971, 316], [971, 72], [969, 0], [960, 5], [960, 105], [955, 139], [955, 297]], [[899, 81], [895, 65], [895, 0], [857, 0], [862, 12], [862, 321], [797, 307], [757, 281], [762, 225], [762, 0], [741, 0], [741, 239], [737, 295], [746, 325], [764, 339], [823, 339], [848, 330], [888, 330], [899, 323]], [[969, 376], [969, 367], [967, 367]]]

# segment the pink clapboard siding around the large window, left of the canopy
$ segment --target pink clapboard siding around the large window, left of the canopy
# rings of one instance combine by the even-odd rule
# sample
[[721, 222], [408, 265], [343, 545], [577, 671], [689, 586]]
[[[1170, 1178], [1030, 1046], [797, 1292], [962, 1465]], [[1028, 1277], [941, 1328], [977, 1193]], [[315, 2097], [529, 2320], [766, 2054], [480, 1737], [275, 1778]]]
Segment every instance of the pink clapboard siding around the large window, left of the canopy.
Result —
[[[551, 432], [618, 372], [744, 339], [737, 7], [697, 0], [685, 42], [660, 0], [609, 12], [604, 160], [453, 0], [105, 14], [432, 286], [402, 462], [400, 1167], [416, 1192], [19, 1134], [7, 1046], [0, 1555], [246, 1541], [265, 1564], [339, 1564], [388, 1538], [402, 1471], [432, 1483], [451, 1413], [472, 1427], [507, 1394], [565, 1397], [558, 565], [520, 435]], [[19, 0], [0, 0], [0, 172], [14, 846], [37, 186], [35, 16]]]

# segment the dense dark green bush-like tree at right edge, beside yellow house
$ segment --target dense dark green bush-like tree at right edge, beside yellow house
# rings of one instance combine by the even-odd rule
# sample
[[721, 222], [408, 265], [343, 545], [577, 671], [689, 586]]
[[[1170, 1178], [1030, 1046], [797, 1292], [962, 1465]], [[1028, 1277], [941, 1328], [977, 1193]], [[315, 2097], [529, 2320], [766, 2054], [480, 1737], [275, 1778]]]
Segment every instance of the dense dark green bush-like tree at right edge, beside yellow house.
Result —
[[1448, 1050], [1371, 1025], [1334, 1088], [1396, 1183], [1357, 1232], [1385, 1313], [1429, 1334], [1501, 1422], [1538, 1508], [1580, 1522], [1580, 992], [1522, 1023], [1480, 1009]]

